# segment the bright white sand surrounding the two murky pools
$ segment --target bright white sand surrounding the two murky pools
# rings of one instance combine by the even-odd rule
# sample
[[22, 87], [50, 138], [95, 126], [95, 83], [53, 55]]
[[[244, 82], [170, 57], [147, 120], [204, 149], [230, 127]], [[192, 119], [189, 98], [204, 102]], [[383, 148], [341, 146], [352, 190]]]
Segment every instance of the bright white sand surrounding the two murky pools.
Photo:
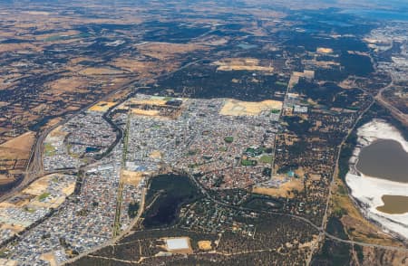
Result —
[[408, 142], [396, 128], [379, 119], [374, 119], [358, 128], [357, 135], [358, 145], [355, 147], [354, 156], [350, 159], [350, 171], [345, 176], [345, 181], [352, 191], [351, 195], [364, 205], [361, 211], [367, 218], [380, 223], [384, 231], [397, 233], [408, 239], [408, 213], [384, 214], [376, 209], [384, 204], [381, 199], [383, 195], [408, 196], [408, 184], [364, 176], [355, 170], [355, 162], [361, 148], [375, 140], [393, 139], [401, 143], [406, 152], [408, 152]]

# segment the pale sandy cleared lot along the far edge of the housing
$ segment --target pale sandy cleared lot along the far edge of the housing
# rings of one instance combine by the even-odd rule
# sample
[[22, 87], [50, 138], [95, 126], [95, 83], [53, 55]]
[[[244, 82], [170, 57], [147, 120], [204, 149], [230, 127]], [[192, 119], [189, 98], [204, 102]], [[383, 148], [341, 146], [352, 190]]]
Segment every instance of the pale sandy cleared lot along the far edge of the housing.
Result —
[[262, 111], [282, 109], [282, 102], [278, 100], [240, 101], [227, 100], [219, 114], [224, 116], [257, 116]]

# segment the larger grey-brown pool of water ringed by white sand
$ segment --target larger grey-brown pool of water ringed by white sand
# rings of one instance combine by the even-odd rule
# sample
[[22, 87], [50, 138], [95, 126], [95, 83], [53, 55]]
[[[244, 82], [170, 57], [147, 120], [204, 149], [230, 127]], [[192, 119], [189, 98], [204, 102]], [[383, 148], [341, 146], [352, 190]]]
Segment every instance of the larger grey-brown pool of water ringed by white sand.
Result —
[[355, 165], [365, 176], [408, 183], [408, 153], [391, 139], [380, 139], [364, 147]]

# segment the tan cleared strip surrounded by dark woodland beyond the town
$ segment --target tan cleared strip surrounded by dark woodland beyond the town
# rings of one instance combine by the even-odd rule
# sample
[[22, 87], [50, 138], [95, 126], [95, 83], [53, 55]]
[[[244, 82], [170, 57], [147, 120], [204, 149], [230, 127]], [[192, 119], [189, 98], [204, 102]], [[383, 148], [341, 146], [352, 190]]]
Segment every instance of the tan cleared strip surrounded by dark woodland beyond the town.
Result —
[[272, 72], [272, 62], [261, 65], [261, 62], [255, 58], [227, 58], [214, 62], [218, 65], [217, 71], [267, 71]]

